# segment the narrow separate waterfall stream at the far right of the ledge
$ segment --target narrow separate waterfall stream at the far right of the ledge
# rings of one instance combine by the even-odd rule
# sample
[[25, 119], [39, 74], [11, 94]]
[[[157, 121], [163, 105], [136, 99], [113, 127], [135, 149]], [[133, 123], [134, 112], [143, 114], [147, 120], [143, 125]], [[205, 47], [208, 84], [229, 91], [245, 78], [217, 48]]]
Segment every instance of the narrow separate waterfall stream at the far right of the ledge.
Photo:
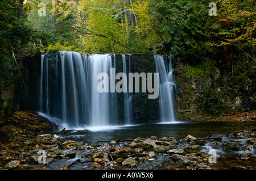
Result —
[[164, 64], [163, 56], [154, 55], [156, 72], [159, 73], [159, 107], [161, 122], [175, 121], [174, 111], [174, 89], [175, 83], [172, 81], [172, 62]]

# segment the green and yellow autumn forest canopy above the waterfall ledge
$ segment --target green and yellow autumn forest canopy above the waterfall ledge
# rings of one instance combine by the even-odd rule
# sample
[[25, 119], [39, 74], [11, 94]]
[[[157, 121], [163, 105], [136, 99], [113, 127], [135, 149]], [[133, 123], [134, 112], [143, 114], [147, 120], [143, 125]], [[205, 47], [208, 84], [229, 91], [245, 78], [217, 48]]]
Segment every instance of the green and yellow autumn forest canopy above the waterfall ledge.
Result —
[[13, 54], [51, 49], [162, 53], [192, 62], [218, 49], [227, 60], [241, 52], [255, 61], [255, 1], [215, 3], [210, 16], [205, 0], [2, 0], [1, 66]]

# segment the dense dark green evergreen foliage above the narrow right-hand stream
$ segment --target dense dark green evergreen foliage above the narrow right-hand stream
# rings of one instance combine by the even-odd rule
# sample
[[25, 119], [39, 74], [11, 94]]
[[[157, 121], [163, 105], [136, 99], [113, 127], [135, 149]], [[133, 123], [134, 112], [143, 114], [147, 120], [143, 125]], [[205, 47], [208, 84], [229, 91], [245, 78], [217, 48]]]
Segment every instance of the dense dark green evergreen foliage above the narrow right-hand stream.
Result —
[[196, 62], [205, 56], [209, 37], [206, 1], [150, 1], [151, 23], [161, 37], [165, 53]]

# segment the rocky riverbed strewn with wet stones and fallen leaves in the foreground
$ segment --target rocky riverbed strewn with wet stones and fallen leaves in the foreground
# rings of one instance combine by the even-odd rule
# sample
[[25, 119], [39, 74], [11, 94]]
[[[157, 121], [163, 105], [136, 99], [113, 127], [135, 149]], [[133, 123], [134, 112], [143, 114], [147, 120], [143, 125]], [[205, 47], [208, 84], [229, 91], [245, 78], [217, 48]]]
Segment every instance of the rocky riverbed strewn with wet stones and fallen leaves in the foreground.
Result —
[[[17, 116], [26, 123], [15, 121]], [[52, 125], [46, 120], [30, 125], [25, 119], [40, 120], [33, 113], [19, 112], [1, 128], [2, 134], [5, 129], [12, 132], [1, 140], [0, 169], [256, 169], [255, 127], [203, 138], [151, 136], [79, 142], [68, 139], [73, 130], [42, 134], [36, 127], [44, 125], [45, 132]]]

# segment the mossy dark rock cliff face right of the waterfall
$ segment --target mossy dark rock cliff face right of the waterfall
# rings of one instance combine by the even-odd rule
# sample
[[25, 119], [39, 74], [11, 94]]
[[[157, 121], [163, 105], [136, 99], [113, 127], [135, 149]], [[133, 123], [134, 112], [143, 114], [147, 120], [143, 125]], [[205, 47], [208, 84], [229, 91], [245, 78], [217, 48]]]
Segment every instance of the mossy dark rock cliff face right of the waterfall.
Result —
[[174, 62], [179, 119], [200, 121], [256, 110], [255, 62], [241, 60], [232, 70], [224, 61]]

